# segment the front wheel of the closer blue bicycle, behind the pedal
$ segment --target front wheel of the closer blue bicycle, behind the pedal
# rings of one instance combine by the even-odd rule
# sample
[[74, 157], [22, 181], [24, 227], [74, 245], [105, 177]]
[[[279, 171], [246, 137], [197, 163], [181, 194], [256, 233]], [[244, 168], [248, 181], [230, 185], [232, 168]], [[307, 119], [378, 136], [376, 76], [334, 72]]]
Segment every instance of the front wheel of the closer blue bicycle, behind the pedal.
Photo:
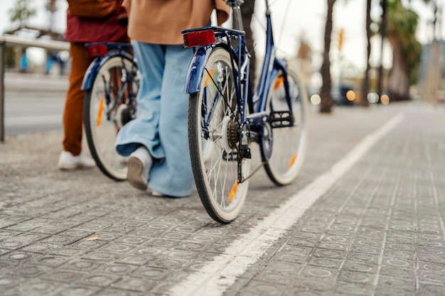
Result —
[[[269, 121], [264, 126], [261, 143], [263, 158], [269, 158], [264, 168], [277, 185], [287, 185], [295, 180], [306, 155], [308, 139], [306, 89], [295, 73], [289, 72], [287, 80], [291, 112], [286, 100], [284, 75], [279, 71], [269, 89], [266, 106]], [[287, 121], [290, 115], [293, 116], [293, 124]]]

